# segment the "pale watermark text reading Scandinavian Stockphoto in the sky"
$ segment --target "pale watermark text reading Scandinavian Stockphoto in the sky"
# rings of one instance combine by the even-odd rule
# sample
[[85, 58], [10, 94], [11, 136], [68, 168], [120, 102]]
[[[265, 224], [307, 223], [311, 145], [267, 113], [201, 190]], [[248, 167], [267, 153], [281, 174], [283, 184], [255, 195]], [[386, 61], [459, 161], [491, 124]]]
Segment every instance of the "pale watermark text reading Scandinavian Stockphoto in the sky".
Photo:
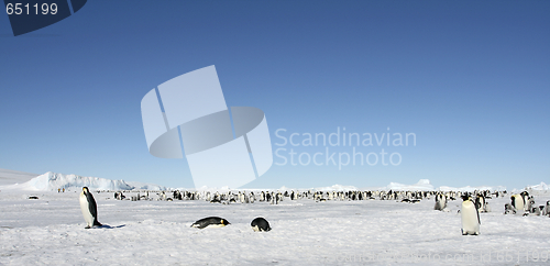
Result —
[[[398, 147], [416, 146], [416, 134], [414, 132], [400, 133], [359, 133], [346, 132], [345, 126], [338, 126], [331, 133], [288, 133], [286, 129], [275, 131], [278, 146], [275, 149], [277, 166], [338, 166], [341, 170], [346, 166], [398, 166], [403, 156], [392, 149]], [[288, 147], [289, 146], [289, 147]], [[380, 152], [372, 151], [381, 147]], [[384, 148], [386, 147], [386, 149]], [[305, 152], [297, 152], [307, 148]], [[338, 149], [334, 152], [334, 149]], [[370, 152], [364, 152], [370, 149]]]

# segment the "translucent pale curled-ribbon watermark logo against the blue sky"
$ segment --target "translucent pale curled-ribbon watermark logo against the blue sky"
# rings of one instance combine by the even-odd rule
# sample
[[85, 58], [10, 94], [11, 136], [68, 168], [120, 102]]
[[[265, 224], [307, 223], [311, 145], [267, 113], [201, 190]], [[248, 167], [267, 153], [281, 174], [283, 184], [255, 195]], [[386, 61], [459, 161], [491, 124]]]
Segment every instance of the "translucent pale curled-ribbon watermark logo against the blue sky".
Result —
[[141, 101], [148, 152], [189, 164], [195, 187], [241, 187], [265, 174], [273, 152], [265, 114], [228, 109], [215, 66], [173, 78]]

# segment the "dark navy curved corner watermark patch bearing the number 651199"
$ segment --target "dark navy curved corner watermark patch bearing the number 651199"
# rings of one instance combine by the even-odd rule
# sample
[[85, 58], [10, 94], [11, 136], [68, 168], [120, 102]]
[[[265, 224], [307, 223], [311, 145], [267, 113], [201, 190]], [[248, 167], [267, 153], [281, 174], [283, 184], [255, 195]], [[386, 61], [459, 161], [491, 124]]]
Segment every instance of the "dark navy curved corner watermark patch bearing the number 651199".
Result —
[[87, 0], [4, 0], [13, 35], [18, 36], [57, 23], [76, 13]]

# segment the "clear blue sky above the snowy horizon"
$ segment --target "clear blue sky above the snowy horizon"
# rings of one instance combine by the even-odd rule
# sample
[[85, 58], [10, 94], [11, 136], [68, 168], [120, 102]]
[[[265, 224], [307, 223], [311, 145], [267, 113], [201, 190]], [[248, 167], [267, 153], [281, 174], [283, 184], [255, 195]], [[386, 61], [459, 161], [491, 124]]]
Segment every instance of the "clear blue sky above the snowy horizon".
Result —
[[90, 0], [18, 37], [0, 15], [0, 168], [193, 187], [185, 159], [148, 154], [140, 102], [216, 65], [228, 106], [265, 112], [274, 152], [278, 129], [417, 136], [356, 147], [399, 153], [398, 166], [273, 165], [246, 187], [549, 184], [549, 13], [548, 1]]

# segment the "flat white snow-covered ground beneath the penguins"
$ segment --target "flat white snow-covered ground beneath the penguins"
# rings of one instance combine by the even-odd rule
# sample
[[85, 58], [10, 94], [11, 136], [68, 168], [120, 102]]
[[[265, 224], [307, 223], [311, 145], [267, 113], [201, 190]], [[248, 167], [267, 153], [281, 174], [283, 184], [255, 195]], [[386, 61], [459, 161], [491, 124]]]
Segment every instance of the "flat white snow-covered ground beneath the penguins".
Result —
[[[460, 199], [443, 212], [433, 198], [220, 204], [94, 191], [107, 226], [86, 230], [78, 193], [2, 189], [0, 265], [550, 265], [550, 218], [504, 215], [509, 195], [488, 200], [481, 235], [463, 236]], [[548, 190], [531, 193], [550, 200]], [[231, 224], [189, 228], [210, 215]], [[253, 232], [256, 217], [273, 230]]]

